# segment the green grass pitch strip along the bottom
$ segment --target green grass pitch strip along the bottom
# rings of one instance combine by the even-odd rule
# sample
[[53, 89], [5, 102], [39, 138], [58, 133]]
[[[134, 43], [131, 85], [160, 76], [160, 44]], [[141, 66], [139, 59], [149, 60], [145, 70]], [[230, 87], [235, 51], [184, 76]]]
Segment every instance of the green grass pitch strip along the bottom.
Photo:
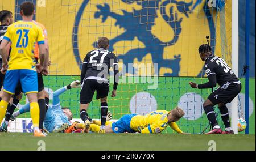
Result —
[[[200, 134], [64, 134], [33, 137], [32, 133], [0, 133], [0, 150], [38, 150], [43, 140], [47, 150], [208, 150], [210, 140], [216, 150], [254, 150], [255, 135]], [[105, 143], [105, 144], [102, 144]]]

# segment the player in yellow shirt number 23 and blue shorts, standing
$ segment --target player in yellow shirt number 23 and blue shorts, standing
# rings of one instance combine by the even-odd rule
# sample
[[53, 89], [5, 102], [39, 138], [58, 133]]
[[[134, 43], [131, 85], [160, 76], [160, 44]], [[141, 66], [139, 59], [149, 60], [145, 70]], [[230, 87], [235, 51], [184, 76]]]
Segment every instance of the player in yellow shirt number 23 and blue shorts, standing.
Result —
[[[5, 116], [6, 108], [11, 95], [14, 94], [18, 82], [22, 84], [23, 92], [30, 101], [31, 118], [34, 126], [35, 136], [44, 136], [39, 131], [39, 105], [37, 99], [38, 78], [37, 73], [48, 74], [47, 61], [44, 61], [46, 49], [44, 46], [44, 35], [42, 29], [32, 22], [35, 9], [32, 2], [23, 2], [20, 6], [20, 15], [22, 21], [10, 25], [3, 37], [0, 45], [0, 54], [2, 55], [1, 73], [6, 73], [3, 83], [3, 96], [0, 102], [0, 122]], [[5, 46], [11, 42], [11, 53], [9, 62], [7, 61], [8, 53]], [[38, 43], [40, 63], [35, 65], [34, 46]]]

